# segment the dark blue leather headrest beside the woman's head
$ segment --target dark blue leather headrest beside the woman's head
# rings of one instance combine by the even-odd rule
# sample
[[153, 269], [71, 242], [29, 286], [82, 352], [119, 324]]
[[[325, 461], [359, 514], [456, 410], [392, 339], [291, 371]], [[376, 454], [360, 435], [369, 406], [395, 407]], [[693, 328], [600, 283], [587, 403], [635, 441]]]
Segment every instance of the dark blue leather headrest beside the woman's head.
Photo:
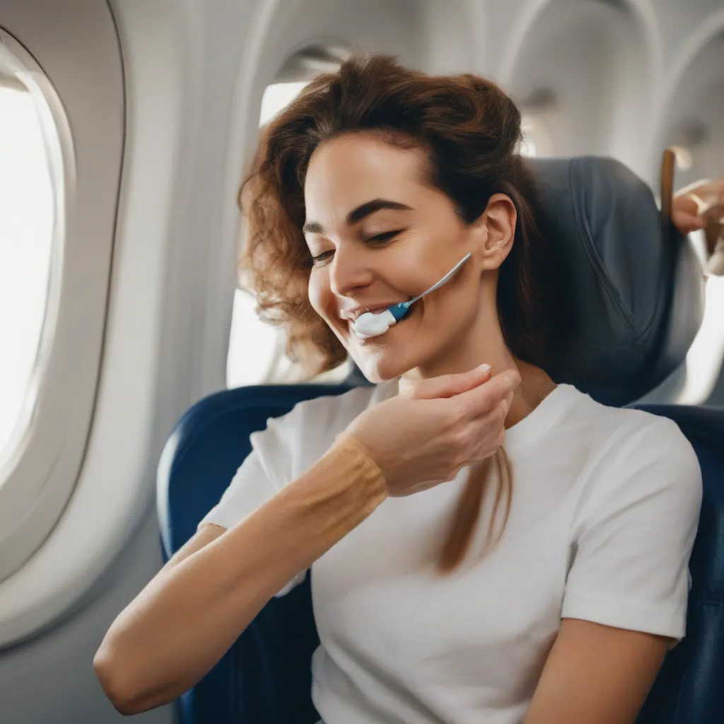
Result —
[[704, 313], [696, 255], [662, 221], [651, 189], [614, 159], [528, 159], [542, 229], [568, 309], [557, 382], [608, 405], [652, 390], [680, 365]]

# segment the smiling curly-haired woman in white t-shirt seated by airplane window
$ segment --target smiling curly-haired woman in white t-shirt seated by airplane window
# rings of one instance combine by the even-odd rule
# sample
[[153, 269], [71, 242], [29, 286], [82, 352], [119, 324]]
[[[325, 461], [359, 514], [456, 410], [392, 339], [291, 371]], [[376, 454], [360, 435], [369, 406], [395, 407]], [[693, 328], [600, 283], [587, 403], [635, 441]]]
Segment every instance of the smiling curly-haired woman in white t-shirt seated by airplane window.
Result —
[[379, 384], [252, 436], [96, 654], [119, 710], [193, 686], [312, 567], [327, 724], [633, 722], [684, 634], [700, 471], [671, 421], [549, 376], [560, 284], [520, 140], [493, 83], [387, 56], [271, 124], [242, 194], [261, 308], [310, 366]]

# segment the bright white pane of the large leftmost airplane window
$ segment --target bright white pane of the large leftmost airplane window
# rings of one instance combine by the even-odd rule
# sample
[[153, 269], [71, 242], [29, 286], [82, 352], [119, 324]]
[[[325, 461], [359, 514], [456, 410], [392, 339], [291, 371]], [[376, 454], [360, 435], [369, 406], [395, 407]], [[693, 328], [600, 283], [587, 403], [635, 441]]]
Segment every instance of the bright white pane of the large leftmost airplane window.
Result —
[[[8, 53], [9, 51], [4, 51]], [[7, 62], [6, 62], [7, 61]], [[34, 406], [54, 252], [60, 163], [42, 93], [0, 56], [0, 457], [25, 432]]]

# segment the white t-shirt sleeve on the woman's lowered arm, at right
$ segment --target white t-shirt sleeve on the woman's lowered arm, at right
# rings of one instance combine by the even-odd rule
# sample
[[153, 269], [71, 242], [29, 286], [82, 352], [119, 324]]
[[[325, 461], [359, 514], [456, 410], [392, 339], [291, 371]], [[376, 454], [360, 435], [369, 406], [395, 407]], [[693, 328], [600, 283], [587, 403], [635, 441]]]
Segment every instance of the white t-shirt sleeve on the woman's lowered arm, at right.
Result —
[[563, 618], [681, 639], [702, 473], [673, 421], [618, 438], [573, 521]]

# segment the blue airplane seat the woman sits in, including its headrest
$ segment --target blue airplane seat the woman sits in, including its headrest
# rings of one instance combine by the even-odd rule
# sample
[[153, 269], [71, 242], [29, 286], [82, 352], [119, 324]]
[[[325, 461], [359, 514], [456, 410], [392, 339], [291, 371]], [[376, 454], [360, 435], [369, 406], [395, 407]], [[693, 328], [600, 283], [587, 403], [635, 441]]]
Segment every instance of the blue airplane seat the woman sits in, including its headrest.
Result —
[[[570, 330], [558, 382], [628, 405], [679, 366], [703, 314], [694, 252], [662, 221], [651, 190], [613, 159], [529, 161], [568, 283]], [[193, 535], [250, 452], [249, 435], [300, 400], [340, 385], [241, 387], [195, 404], [161, 455], [157, 504], [164, 557]], [[687, 636], [667, 656], [642, 724], [714, 724], [724, 710], [724, 411], [641, 405], [679, 424], [702, 466], [704, 502], [691, 557]], [[271, 599], [211, 672], [180, 697], [181, 724], [314, 724], [310, 659], [319, 644], [310, 576]]]

